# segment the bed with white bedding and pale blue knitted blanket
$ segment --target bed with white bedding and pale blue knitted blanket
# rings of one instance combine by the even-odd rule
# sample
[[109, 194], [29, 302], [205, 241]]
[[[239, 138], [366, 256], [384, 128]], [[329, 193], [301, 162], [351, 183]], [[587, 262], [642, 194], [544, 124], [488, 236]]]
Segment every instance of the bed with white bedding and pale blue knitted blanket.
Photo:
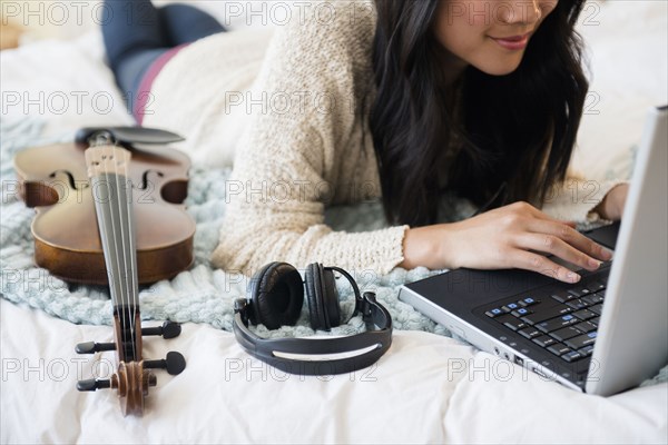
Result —
[[[583, 11], [579, 29], [589, 44], [592, 86], [573, 162], [591, 178], [628, 176], [647, 107], [668, 103], [667, 8], [608, 1]], [[104, 289], [67, 285], [31, 264], [32, 210], [16, 197], [11, 158], [27, 146], [71, 139], [80, 127], [131, 119], [95, 30], [0, 58], [2, 443], [668, 442], [668, 368], [608, 398], [547, 382], [453, 338], [399, 301], [401, 284], [431, 274], [425, 269], [357, 276], [389, 307], [395, 326], [392, 347], [374, 366], [305, 377], [252, 358], [230, 333], [232, 300], [244, 296], [247, 278], [207, 261], [224, 200], [212, 184], [226, 172], [205, 166], [194, 166], [198, 175], [187, 201], [198, 224], [196, 265], [141, 293], [146, 326], [185, 322], [175, 339], [146, 339], [145, 356], [181, 352], [185, 372], [158, 373], [143, 417], [122, 417], [112, 392], [78, 393], [78, 379], [112, 372], [112, 353], [73, 352], [77, 343], [111, 340], [109, 301]], [[380, 211], [370, 206], [338, 215], [336, 224], [369, 227]], [[367, 219], [351, 222], [355, 215]], [[350, 314], [350, 291], [342, 294]], [[294, 328], [258, 334], [313, 334], [305, 318]], [[353, 319], [334, 334], [361, 328]]]

